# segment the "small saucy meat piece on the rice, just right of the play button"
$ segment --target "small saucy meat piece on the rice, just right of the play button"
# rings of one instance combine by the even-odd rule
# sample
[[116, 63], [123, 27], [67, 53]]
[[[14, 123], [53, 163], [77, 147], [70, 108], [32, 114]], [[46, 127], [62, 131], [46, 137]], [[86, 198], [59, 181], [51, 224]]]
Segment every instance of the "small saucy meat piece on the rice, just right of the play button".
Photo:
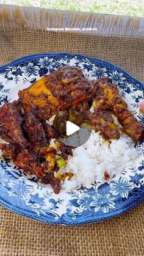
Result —
[[86, 114], [90, 117], [92, 128], [95, 131], [100, 131], [104, 139], [120, 138], [120, 131], [117, 125], [113, 123], [113, 117], [110, 111], [96, 110], [94, 113], [86, 111]]

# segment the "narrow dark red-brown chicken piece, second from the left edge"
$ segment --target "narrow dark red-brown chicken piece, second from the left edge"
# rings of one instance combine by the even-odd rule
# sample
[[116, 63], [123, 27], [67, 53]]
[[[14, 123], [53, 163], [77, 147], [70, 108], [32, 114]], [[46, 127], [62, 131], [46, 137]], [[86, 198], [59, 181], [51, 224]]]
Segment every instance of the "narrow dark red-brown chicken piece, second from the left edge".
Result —
[[48, 146], [43, 125], [34, 114], [27, 113], [24, 116], [24, 131], [35, 152], [38, 153], [41, 148]]

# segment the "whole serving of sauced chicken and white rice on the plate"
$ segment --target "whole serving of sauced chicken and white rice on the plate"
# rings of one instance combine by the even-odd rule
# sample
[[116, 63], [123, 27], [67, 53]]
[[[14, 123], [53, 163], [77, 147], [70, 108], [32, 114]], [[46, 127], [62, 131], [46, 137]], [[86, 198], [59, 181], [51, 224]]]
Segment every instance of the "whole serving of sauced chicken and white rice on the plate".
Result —
[[[7, 142], [0, 144], [2, 155], [56, 194], [61, 188], [90, 186], [98, 176], [109, 181], [139, 155], [132, 140], [142, 141], [143, 125], [107, 78], [90, 81], [81, 68], [63, 66], [20, 90], [18, 97], [0, 111], [0, 136]], [[59, 141], [59, 136], [67, 139], [62, 126], [67, 120], [92, 124], [90, 139], [81, 147]]]

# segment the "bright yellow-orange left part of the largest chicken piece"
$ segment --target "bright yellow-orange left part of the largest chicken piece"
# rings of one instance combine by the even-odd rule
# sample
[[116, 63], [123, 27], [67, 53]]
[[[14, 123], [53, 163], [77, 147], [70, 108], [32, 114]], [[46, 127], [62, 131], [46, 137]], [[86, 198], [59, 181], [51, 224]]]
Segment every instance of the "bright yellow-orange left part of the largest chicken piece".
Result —
[[41, 120], [48, 120], [59, 111], [59, 101], [46, 86], [46, 78], [43, 76], [30, 87], [18, 92], [19, 109], [25, 113], [32, 112]]

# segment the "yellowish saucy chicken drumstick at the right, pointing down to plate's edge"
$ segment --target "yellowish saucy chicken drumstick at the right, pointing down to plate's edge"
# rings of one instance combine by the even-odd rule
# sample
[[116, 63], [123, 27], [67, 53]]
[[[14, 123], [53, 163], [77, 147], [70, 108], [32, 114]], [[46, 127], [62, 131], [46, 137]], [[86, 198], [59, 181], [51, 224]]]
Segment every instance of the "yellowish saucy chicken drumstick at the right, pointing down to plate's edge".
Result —
[[117, 116], [118, 121], [123, 126], [124, 133], [128, 134], [133, 141], [142, 141], [144, 138], [144, 127], [127, 109], [127, 104], [123, 101], [115, 84], [109, 82], [107, 78], [93, 81], [93, 93], [95, 100], [93, 108], [97, 110], [110, 109]]

